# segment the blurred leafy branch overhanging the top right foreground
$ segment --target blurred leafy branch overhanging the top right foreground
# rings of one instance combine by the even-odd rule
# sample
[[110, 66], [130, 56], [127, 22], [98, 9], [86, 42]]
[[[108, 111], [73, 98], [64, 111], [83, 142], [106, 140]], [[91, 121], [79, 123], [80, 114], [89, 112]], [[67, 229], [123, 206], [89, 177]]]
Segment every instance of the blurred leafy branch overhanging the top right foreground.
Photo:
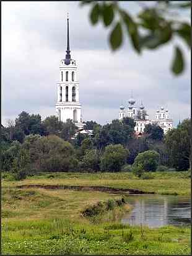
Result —
[[[123, 37], [129, 37], [134, 50], [141, 53], [143, 50], [154, 50], [166, 43], [175, 42], [175, 37], [179, 37], [186, 43], [186, 47], [191, 47], [191, 26], [190, 21], [181, 21], [178, 13], [187, 9], [190, 16], [190, 1], [155, 1], [154, 4], [147, 5], [137, 1], [141, 11], [132, 17], [131, 14], [121, 7], [118, 1], [82, 1], [81, 5], [89, 4], [90, 22], [92, 25], [99, 21], [105, 27], [112, 27], [109, 43], [112, 50], [121, 47]], [[127, 3], [129, 4], [129, 3]], [[126, 33], [126, 34], [125, 34]], [[179, 75], [185, 68], [183, 50], [174, 46], [174, 58], [171, 70], [175, 75]]]

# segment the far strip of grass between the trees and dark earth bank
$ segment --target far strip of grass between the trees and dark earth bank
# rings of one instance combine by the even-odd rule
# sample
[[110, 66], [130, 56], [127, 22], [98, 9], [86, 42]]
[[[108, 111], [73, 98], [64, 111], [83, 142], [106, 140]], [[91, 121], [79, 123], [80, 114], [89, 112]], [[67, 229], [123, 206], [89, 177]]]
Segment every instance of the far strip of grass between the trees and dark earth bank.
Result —
[[[155, 191], [157, 194], [190, 195], [190, 178], [187, 171], [156, 172], [154, 179], [141, 180], [133, 173], [50, 173], [31, 176], [24, 181], [6, 181], [4, 186], [15, 185], [80, 185], [111, 186], [114, 188], [136, 188]], [[54, 176], [54, 178], [48, 178]]]

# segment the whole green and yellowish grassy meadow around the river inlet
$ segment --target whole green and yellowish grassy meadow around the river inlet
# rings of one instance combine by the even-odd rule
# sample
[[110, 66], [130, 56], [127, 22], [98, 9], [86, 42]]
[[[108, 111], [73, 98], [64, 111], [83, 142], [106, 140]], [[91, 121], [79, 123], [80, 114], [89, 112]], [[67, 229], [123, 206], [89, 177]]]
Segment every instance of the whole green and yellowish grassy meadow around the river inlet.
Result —
[[[190, 194], [186, 173], [155, 173], [139, 180], [131, 173], [47, 173], [23, 181], [2, 180], [2, 254], [190, 254], [190, 228], [123, 226], [128, 205], [98, 221], [82, 211], [98, 201], [120, 198], [100, 191], [19, 189], [19, 185], [81, 185], [136, 188], [160, 194]], [[96, 219], [97, 220], [97, 219]]]

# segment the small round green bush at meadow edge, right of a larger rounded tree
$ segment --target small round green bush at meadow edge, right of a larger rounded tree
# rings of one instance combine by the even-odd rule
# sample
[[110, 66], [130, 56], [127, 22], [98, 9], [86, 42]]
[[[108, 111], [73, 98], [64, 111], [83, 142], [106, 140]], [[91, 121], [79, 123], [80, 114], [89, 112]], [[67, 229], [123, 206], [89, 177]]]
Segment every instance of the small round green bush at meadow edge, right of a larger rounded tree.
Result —
[[133, 169], [144, 171], [155, 171], [159, 162], [159, 153], [154, 150], [147, 150], [139, 153], [134, 160]]

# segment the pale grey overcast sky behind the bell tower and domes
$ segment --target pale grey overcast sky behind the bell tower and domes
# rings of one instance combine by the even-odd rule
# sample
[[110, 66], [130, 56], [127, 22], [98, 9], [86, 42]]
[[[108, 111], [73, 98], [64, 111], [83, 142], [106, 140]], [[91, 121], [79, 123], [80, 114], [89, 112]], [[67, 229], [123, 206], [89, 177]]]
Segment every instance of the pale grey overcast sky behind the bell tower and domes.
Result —
[[[136, 2], [121, 3], [133, 13]], [[84, 121], [106, 124], [118, 118], [119, 106], [133, 96], [141, 100], [149, 118], [164, 106], [175, 126], [190, 117], [190, 52], [186, 70], [170, 72], [173, 45], [137, 55], [124, 40], [113, 53], [110, 29], [90, 25], [89, 6], [79, 2], [2, 2], [2, 124], [22, 111], [55, 114], [59, 60], [66, 51], [66, 16], [69, 12], [71, 57], [79, 68], [79, 99]], [[179, 42], [181, 43], [181, 42]]]

